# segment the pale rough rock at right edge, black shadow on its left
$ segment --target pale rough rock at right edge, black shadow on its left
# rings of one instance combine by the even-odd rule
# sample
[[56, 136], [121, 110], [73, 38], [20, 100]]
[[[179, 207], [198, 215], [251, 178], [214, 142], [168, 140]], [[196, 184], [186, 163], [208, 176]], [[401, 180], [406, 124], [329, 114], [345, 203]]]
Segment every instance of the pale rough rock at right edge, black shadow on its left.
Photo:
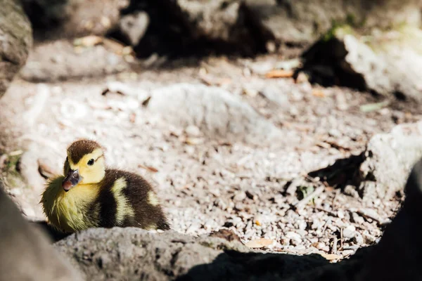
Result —
[[420, 157], [422, 122], [399, 124], [390, 133], [373, 136], [361, 154], [338, 159], [331, 166], [311, 171], [309, 176], [326, 178], [336, 170], [338, 176], [328, 183], [344, 186], [347, 194], [362, 197], [366, 203], [390, 200], [403, 189], [411, 166]]

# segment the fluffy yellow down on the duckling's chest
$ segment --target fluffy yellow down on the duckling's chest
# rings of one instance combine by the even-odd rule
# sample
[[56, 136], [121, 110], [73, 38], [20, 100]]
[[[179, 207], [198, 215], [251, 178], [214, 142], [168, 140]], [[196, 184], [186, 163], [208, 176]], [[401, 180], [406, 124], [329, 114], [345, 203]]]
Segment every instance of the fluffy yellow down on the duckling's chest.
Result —
[[88, 209], [98, 196], [98, 185], [76, 185], [65, 192], [63, 178], [58, 176], [49, 181], [41, 199], [49, 222], [66, 233], [98, 226], [99, 205], [94, 210]]

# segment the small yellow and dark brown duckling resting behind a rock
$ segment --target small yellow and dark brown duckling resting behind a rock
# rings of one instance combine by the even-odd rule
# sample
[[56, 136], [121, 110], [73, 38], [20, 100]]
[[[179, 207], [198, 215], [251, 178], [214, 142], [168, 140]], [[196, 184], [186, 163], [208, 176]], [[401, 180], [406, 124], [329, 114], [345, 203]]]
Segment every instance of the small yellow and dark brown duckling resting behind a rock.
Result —
[[151, 184], [137, 174], [108, 169], [96, 141], [77, 140], [67, 154], [65, 176], [49, 180], [40, 202], [51, 226], [64, 233], [114, 226], [170, 229]]

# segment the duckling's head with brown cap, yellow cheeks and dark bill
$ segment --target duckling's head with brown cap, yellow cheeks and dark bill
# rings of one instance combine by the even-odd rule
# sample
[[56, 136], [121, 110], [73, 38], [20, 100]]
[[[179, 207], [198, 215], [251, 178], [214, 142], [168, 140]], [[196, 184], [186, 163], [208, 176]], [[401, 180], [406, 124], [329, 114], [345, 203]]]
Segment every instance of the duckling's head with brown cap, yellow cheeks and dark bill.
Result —
[[99, 183], [106, 174], [103, 148], [87, 139], [75, 141], [68, 147], [63, 170], [62, 187], [66, 192], [76, 185]]

